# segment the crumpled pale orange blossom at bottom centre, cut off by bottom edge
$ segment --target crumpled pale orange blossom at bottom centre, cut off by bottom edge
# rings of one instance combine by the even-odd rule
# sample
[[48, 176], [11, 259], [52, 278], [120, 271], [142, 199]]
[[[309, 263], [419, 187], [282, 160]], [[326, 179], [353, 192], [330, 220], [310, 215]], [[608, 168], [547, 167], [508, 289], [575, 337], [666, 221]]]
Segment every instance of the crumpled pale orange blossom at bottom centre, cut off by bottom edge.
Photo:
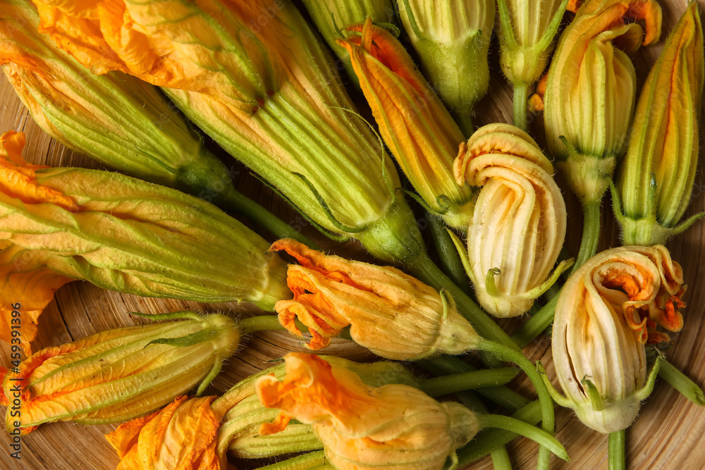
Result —
[[290, 419], [313, 426], [336, 469], [443, 469], [446, 459], [479, 430], [477, 416], [461, 404], [439, 403], [408, 385], [372, 388], [355, 373], [313, 354], [290, 352], [286, 376], [257, 380], [266, 407], [281, 409], [267, 435]]

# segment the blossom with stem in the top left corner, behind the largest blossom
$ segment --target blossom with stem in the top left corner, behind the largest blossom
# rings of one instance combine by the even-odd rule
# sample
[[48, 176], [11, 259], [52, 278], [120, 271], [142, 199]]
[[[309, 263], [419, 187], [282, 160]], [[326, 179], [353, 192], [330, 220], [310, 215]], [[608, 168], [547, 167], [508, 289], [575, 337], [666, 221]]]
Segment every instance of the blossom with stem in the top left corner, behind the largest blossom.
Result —
[[123, 173], [228, 206], [278, 237], [305, 240], [235, 190], [225, 165], [158, 89], [120, 72], [92, 75], [37, 32], [30, 0], [2, 5], [0, 65], [51, 137]]

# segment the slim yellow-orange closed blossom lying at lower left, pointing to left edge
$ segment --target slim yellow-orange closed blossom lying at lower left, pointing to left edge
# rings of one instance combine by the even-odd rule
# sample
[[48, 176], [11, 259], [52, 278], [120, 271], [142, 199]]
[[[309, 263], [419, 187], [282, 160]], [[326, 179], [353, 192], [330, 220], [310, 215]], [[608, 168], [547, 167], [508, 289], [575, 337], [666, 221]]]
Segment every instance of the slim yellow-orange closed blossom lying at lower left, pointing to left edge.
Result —
[[1, 399], [20, 407], [11, 415], [8, 406], [6, 429], [25, 434], [42, 423], [113, 423], [151, 413], [196, 386], [200, 394], [240, 344], [227, 316], [157, 318], [183, 321], [107, 330], [48, 347], [6, 371]]

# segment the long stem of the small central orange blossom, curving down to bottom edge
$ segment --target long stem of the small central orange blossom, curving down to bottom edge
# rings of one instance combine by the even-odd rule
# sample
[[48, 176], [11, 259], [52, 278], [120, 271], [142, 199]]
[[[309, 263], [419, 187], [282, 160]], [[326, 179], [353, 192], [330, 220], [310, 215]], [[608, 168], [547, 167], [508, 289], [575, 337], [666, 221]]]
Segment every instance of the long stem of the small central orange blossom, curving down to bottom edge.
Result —
[[[553, 435], [553, 428], [555, 426], [555, 418], [553, 416], [553, 399], [551, 398], [551, 395], [548, 394], [548, 389], [544, 384], [544, 380], [539, 375], [536, 366], [524, 357], [521, 352], [511, 350], [508, 347], [493, 341], [481, 339], [479, 340], [477, 348], [482, 351], [491, 352], [499, 359], [513, 361], [517, 364], [517, 366], [522, 368], [522, 370], [527, 374], [529, 380], [534, 384], [537, 395], [539, 395], [539, 402], [541, 402], [541, 428], [546, 431], [546, 433]], [[550, 461], [551, 450], [542, 445], [539, 447], [539, 464], [537, 468], [539, 470], [547, 470]]]

